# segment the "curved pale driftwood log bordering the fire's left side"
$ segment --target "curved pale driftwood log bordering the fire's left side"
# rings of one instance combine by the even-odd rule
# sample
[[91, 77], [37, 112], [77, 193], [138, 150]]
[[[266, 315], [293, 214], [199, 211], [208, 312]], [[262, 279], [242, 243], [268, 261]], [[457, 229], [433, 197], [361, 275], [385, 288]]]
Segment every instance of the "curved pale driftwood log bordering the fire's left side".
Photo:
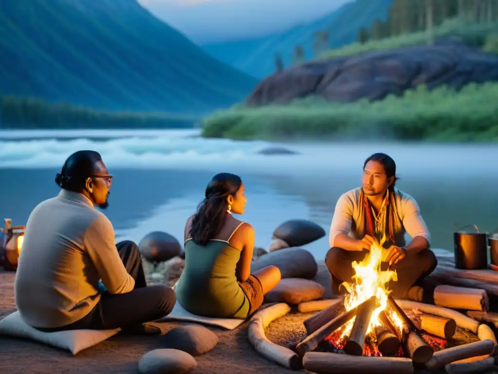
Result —
[[270, 342], [264, 334], [264, 329], [271, 321], [286, 315], [289, 311], [290, 307], [287, 304], [279, 303], [254, 314], [249, 324], [248, 339], [261, 356], [285, 368], [299, 370], [302, 368], [301, 358], [288, 348]]

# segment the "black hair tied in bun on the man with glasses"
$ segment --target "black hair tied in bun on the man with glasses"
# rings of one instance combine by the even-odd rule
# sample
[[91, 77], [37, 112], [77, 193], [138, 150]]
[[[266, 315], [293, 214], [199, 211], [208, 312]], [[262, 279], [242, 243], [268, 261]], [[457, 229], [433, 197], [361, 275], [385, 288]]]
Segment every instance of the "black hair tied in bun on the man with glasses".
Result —
[[95, 164], [102, 157], [95, 151], [78, 151], [68, 157], [60, 173], [55, 175], [57, 186], [73, 192], [80, 192], [85, 187], [85, 180], [95, 173]]

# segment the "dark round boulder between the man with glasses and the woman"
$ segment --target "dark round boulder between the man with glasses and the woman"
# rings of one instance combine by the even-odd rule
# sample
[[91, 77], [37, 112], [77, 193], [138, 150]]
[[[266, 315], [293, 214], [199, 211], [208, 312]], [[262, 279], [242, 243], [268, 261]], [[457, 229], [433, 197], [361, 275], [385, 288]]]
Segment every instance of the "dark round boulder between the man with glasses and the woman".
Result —
[[142, 256], [150, 262], [163, 262], [179, 256], [182, 247], [176, 238], [166, 232], [152, 231], [138, 243]]

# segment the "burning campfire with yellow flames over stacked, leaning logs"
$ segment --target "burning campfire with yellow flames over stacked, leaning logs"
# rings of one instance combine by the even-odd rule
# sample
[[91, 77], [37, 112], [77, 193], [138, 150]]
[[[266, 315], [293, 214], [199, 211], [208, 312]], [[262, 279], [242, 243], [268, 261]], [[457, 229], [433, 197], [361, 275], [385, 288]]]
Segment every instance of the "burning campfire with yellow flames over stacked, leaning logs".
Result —
[[425, 363], [434, 350], [403, 310], [389, 295], [389, 281], [397, 280], [390, 269], [382, 269], [385, 249], [375, 242], [362, 262], [354, 262], [354, 283], [343, 283], [347, 292], [335, 305], [304, 322], [308, 337], [296, 346], [304, 355], [328, 342], [337, 351], [352, 356], [403, 357]]

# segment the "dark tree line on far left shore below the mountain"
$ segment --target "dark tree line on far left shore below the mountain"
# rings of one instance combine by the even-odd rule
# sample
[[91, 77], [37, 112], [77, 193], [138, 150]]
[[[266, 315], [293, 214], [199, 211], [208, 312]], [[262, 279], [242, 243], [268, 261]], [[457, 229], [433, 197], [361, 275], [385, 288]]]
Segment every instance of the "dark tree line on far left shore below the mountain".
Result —
[[164, 112], [106, 112], [0, 95], [0, 129], [192, 128], [195, 118]]

